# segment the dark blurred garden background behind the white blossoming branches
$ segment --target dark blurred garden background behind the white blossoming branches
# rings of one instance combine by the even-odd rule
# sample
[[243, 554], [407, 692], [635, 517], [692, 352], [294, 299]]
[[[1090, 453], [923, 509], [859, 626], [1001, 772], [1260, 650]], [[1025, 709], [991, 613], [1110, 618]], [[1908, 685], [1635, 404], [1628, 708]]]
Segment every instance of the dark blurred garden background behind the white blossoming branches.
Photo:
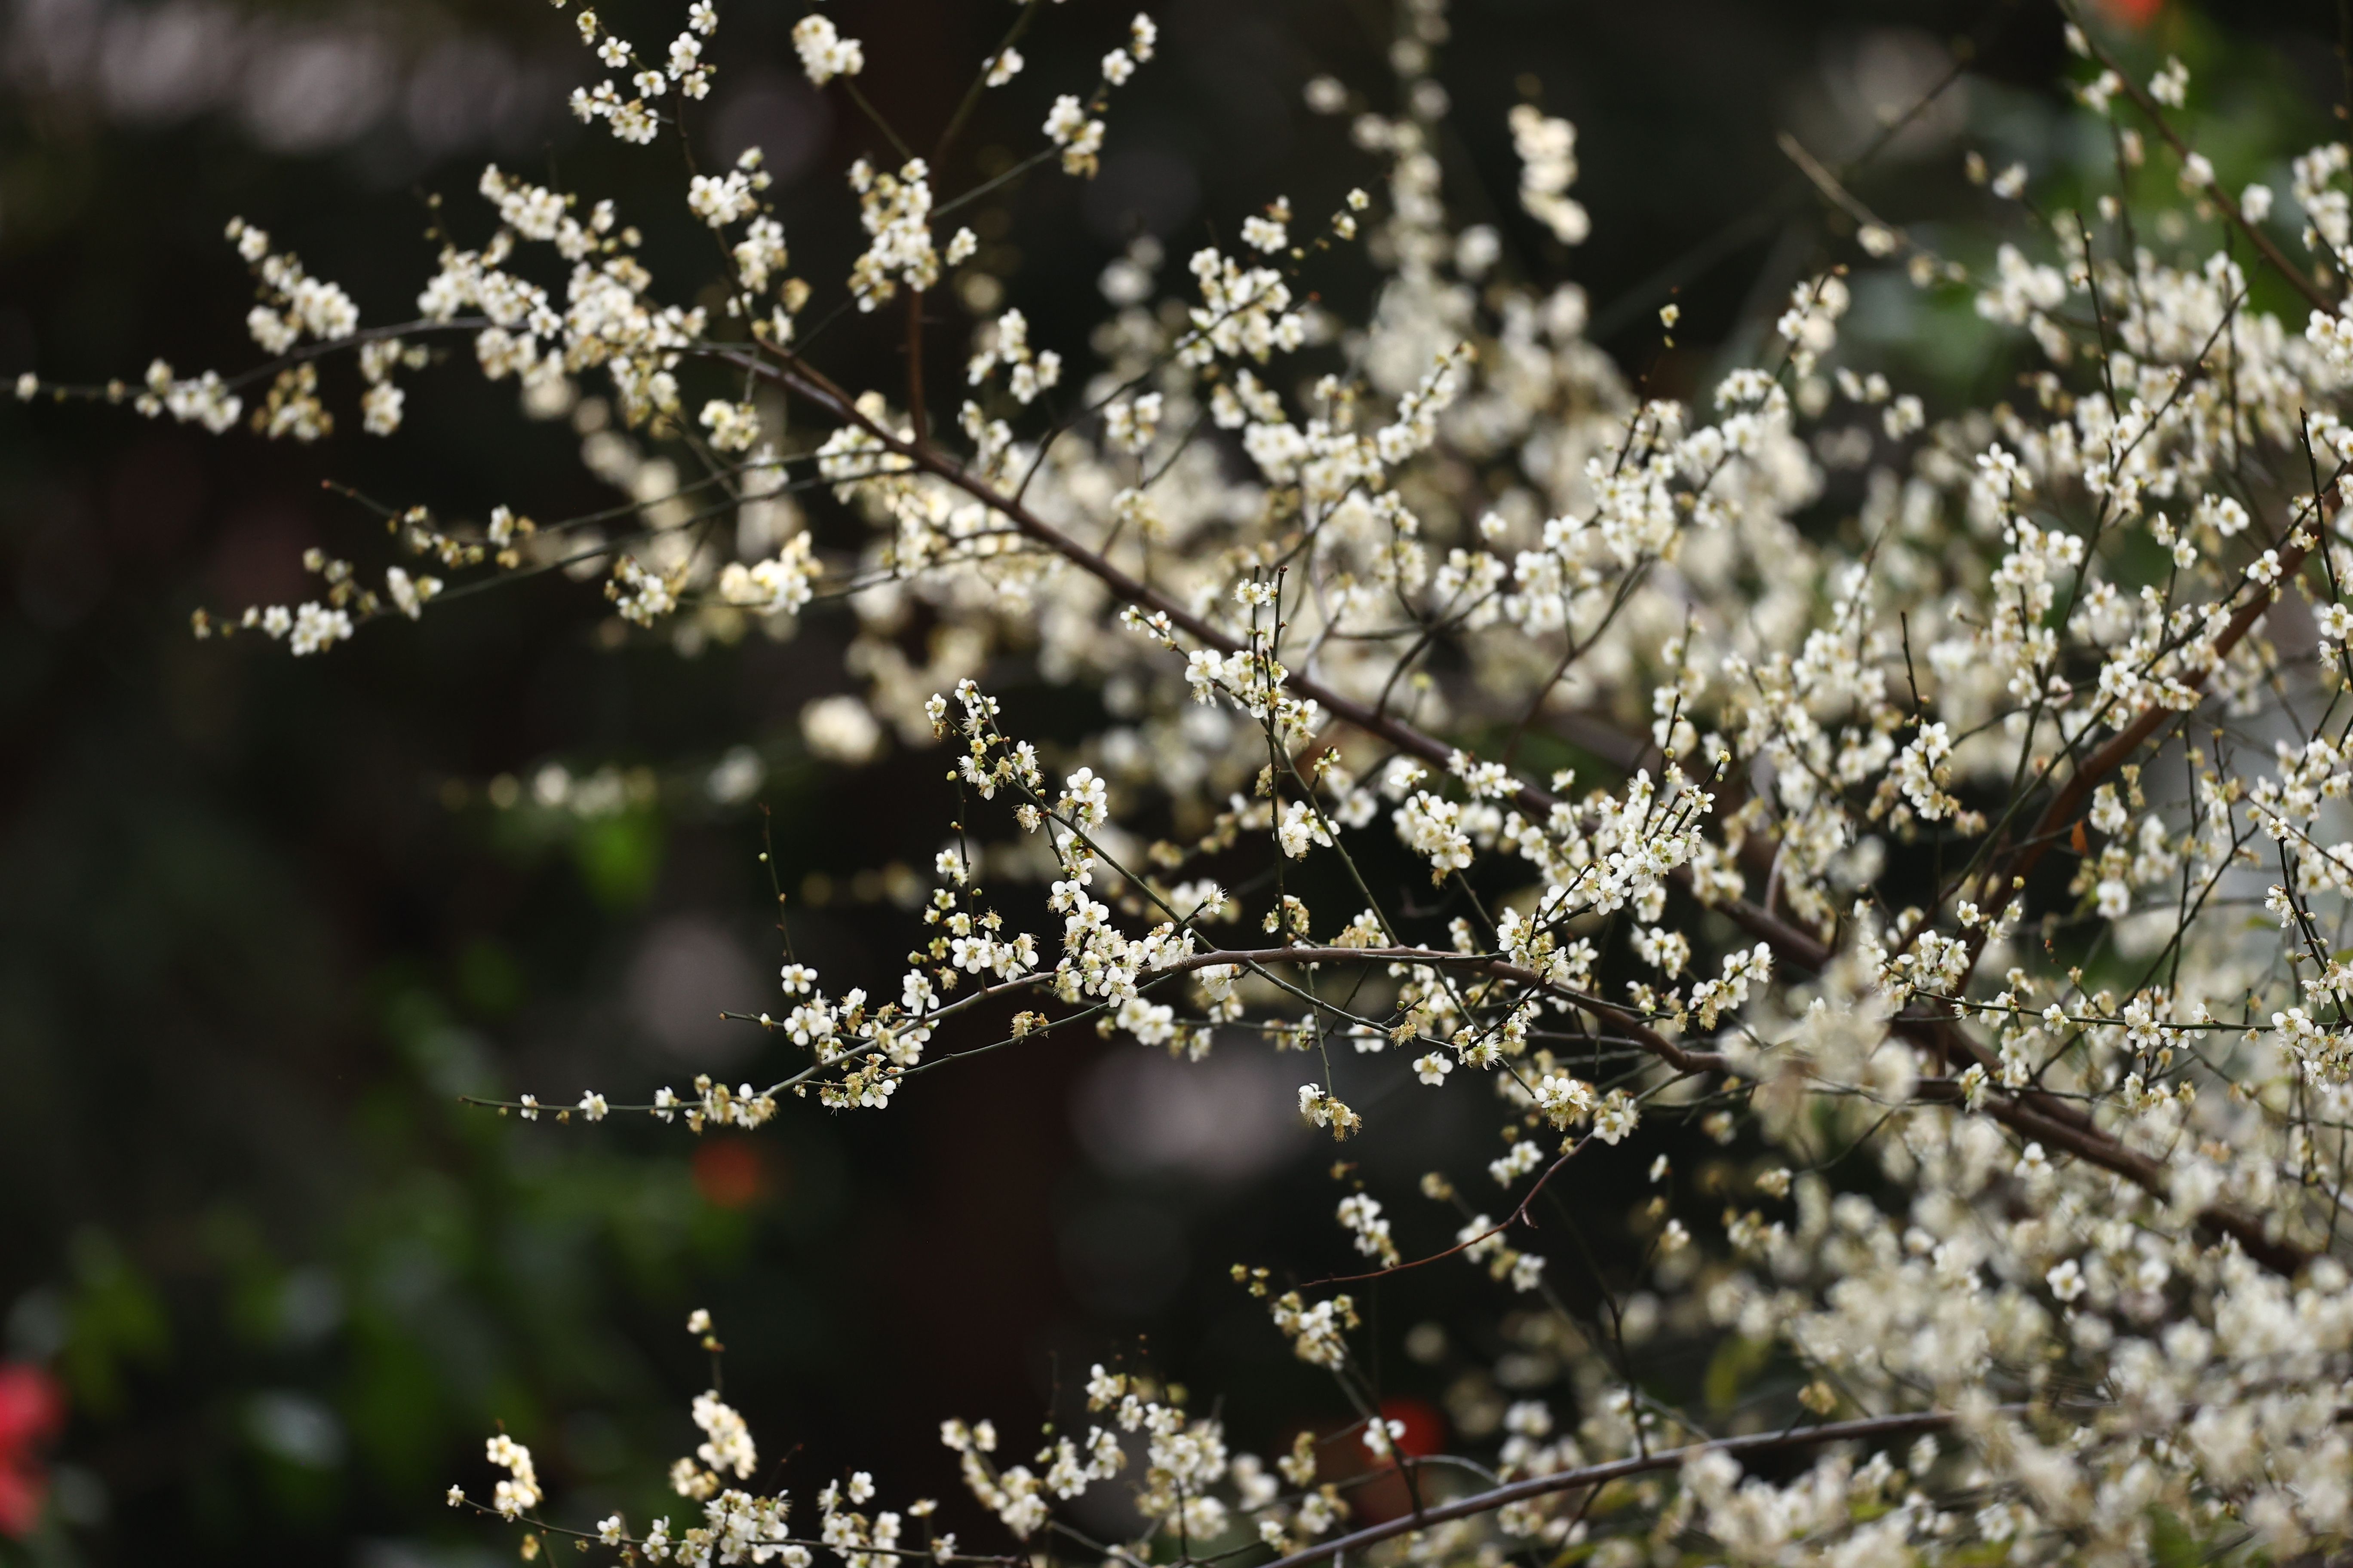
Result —
[[[979, 0], [828, 9], [866, 40], [861, 87], [918, 146], [1012, 16]], [[856, 252], [840, 169], [885, 148], [798, 78], [798, 14], [722, 12], [718, 92], [689, 127], [706, 160], [769, 148], [793, 270], [826, 308]], [[1031, 150], [1052, 94], [1092, 80], [1125, 16], [1047, 7], [1028, 71], [991, 94], [941, 193]], [[1388, 108], [1386, 7], [1174, 0], [1158, 16], [1162, 54], [1113, 103], [1101, 179], [1045, 169], [974, 219], [1007, 303], [1073, 369], [1094, 277], [1136, 233], [1181, 259], [1278, 193], [1315, 214], [1379, 174], [1301, 85], [1337, 73]], [[631, 0], [607, 21], [640, 45], [680, 26]], [[2228, 21], [2226, 38], [2165, 7], [2120, 38], [2151, 63], [2181, 49], [2238, 73], [2202, 103], [2207, 143], [2228, 181], [2268, 174], [2285, 205], [2285, 158], [2325, 134], [2339, 94], [2337, 14], [2233, 2]], [[1981, 75], [1859, 190], [1960, 235], [1998, 221], [1960, 179], [1962, 146], [2038, 167], [2073, 146], [2040, 5], [1461, 0], [1452, 26], [1449, 202], [1504, 228], [1508, 273], [1581, 282], [1605, 346], [1664, 393], [1753, 343], [1835, 242], [1777, 129], [1847, 153], [1969, 38]], [[485, 160], [616, 195], [649, 230], [656, 292], [706, 277], [675, 148], [619, 148], [562, 113], [588, 75], [569, 12], [539, 0], [9, 0], [0, 376], [249, 364], [231, 214], [344, 282], [367, 320], [405, 320], [431, 270], [424, 195], [445, 193], [480, 242]], [[1504, 110], [1522, 96], [1579, 125], [1593, 237], [1577, 252], [1515, 216]], [[1652, 313], [1678, 282], [1685, 324], [1664, 353]], [[1339, 303], [1348, 287], [1362, 280]], [[944, 378], [969, 317], [934, 306]], [[2007, 374], [1920, 341], [1920, 317], [1868, 315], [1859, 303], [1857, 334], [1948, 402]], [[816, 357], [889, 386], [894, 353], [894, 331], [849, 322]], [[522, 421], [511, 388], [471, 371], [412, 378], [391, 442], [360, 437], [351, 388], [329, 386], [353, 433], [308, 449], [0, 404], [0, 1314], [5, 1354], [47, 1366], [71, 1406], [45, 1521], [0, 1559], [504, 1554], [499, 1530], [440, 1507], [449, 1481], [487, 1493], [494, 1420], [534, 1443], [560, 1516], [642, 1521], [694, 1441], [685, 1401], [706, 1371], [682, 1319], [699, 1305], [765, 1458], [793, 1453], [765, 1479], [800, 1497], [847, 1462], [878, 1472], [885, 1502], [951, 1495], [939, 1418], [993, 1415], [1021, 1448], [1056, 1387], [1113, 1354], [1231, 1389], [1242, 1446], [1334, 1420], [1329, 1389], [1224, 1279], [1235, 1260], [1346, 1262], [1332, 1152], [1285, 1114], [1294, 1074], [1247, 1046], [1186, 1074], [1132, 1044], [1056, 1039], [922, 1079], [889, 1114], [793, 1103], [758, 1138], [701, 1143], [454, 1103], [642, 1098], [704, 1065], [776, 1074], [781, 1048], [713, 1018], [776, 999], [760, 818], [701, 785], [729, 748], [767, 762], [776, 863], [809, 893], [793, 933], [835, 987], [899, 973], [913, 922], [892, 879], [859, 872], [927, 879], [951, 802], [936, 755], [859, 773], [800, 755], [800, 708], [845, 689], [840, 611], [784, 644], [680, 658], [612, 637], [595, 588], [551, 576], [329, 658], [193, 642], [195, 604], [299, 597], [306, 545], [369, 548], [369, 517], [322, 480], [468, 515], [612, 498], [560, 423]], [[1024, 682], [1002, 677], [1038, 724], [1085, 729], [1085, 696]], [[485, 804], [487, 780], [527, 785], [551, 762], [649, 790], [595, 818]], [[1475, 1175], [1492, 1147], [1468, 1135], [1440, 1119], [1351, 1154], [1402, 1197], [1431, 1164]], [[1605, 1190], [1591, 1211], [1607, 1227], [1638, 1197]], [[1391, 1286], [1372, 1342], [1391, 1387], [1475, 1429], [1485, 1385], [1464, 1368], [1501, 1342], [1464, 1326], [1461, 1359], [1398, 1354], [1457, 1284]]]

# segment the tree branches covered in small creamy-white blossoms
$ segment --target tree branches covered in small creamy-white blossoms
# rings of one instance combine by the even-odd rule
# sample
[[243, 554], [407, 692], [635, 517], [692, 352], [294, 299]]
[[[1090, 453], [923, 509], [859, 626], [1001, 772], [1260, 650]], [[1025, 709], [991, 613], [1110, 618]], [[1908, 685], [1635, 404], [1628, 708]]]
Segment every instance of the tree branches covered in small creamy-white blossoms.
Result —
[[[941, 146], [984, 94], [1028, 85], [1016, 42], [1038, 16], [1031, 0], [976, 61]], [[711, 0], [659, 49], [574, 21], [602, 68], [574, 113], [624, 143], [675, 136], [718, 68]], [[365, 501], [393, 559], [313, 552], [315, 599], [198, 611], [198, 637], [325, 654], [562, 567], [682, 644], [849, 616], [866, 696], [812, 710], [812, 748], [854, 759], [892, 726], [948, 755], [908, 969], [819, 976], [788, 947], [779, 999], [744, 1020], [795, 1053], [784, 1077], [501, 1112], [694, 1133], [878, 1112], [988, 1070], [967, 1056], [1092, 1027], [1129, 1041], [1113, 1048], [1292, 1053], [1297, 1110], [1334, 1140], [1431, 1095], [1473, 1095], [1504, 1131], [1487, 1171], [1426, 1175], [1426, 1208], [1346, 1180], [1355, 1274], [1235, 1265], [1334, 1385], [1332, 1429], [1271, 1465], [1165, 1368], [1106, 1354], [1035, 1450], [944, 1422], [1000, 1521], [967, 1544], [927, 1500], [868, 1507], [866, 1472], [795, 1521], [713, 1389], [668, 1519], [558, 1523], [529, 1450], [494, 1436], [506, 1479], [449, 1502], [525, 1526], [527, 1556], [572, 1533], [696, 1568], [1297, 1568], [1381, 1542], [1609, 1568], [2177, 1561], [2353, 1530], [2353, 842], [2334, 842], [2353, 788], [2353, 153], [2301, 155], [2301, 221], [2275, 226], [2268, 188], [2226, 193], [2179, 134], [2179, 61], [2137, 80], [2071, 26], [2111, 190], [2042, 207], [2033, 172], [1972, 155], [2021, 212], [2017, 244], [1972, 268], [1791, 143], [1854, 254], [1793, 292], [1758, 364], [1685, 407], [1584, 339], [1577, 287], [1497, 275], [1494, 230], [1452, 223], [1442, 35], [1438, 0], [1402, 9], [1395, 113], [1308, 87], [1355, 110], [1379, 195], [1278, 195], [1176, 277], [1136, 244], [1104, 277], [1085, 376], [1078, 346], [991, 306], [955, 390], [927, 383], [927, 301], [974, 275], [955, 214], [981, 190], [934, 193], [859, 94], [866, 45], [812, 12], [793, 33], [807, 78], [894, 148], [847, 169], [866, 235], [847, 280], [788, 270], [758, 150], [635, 221], [492, 167], [485, 209], [438, 214], [414, 320], [365, 327], [231, 223], [268, 362], [19, 383], [308, 442], [336, 423], [320, 364], [351, 360], [365, 433], [391, 437], [447, 374], [438, 346], [471, 343], [525, 414], [600, 437], [626, 501], [539, 524], [525, 496], [482, 522]], [[1106, 42], [1099, 78], [1047, 85], [1035, 153], [998, 179], [1094, 174], [1153, 21]], [[1577, 244], [1572, 127], [1518, 106], [1508, 129], [1527, 216]], [[2151, 202], [2167, 181], [2179, 200]], [[699, 296], [638, 261], [654, 221], [715, 240], [718, 308], [664, 303]], [[2160, 252], [2144, 228], [2174, 237]], [[1318, 299], [1348, 252], [1379, 275], [1360, 320]], [[2045, 362], [2028, 395], [1932, 418], [1847, 364], [1859, 270], [2021, 329]], [[904, 315], [904, 360], [833, 362], [845, 313]], [[1849, 529], [1833, 494], [1857, 498]], [[864, 541], [812, 529], [802, 498]], [[1120, 696], [1047, 748], [991, 696], [1009, 670]], [[1311, 910], [1301, 889], [1348, 893]], [[1694, 1135], [1734, 1152], [1739, 1190], [1675, 1190], [1659, 1145]], [[1593, 1161], [1635, 1161], [1659, 1199], [1640, 1298], [1605, 1291], [1579, 1319], [1544, 1220]], [[1358, 1314], [1402, 1269], [1447, 1269], [1494, 1314], [1532, 1307], [1572, 1396], [1511, 1406], [1494, 1448], [1414, 1453]], [[1725, 1410], [1666, 1403], [1635, 1316], [1713, 1347], [1734, 1382], [1774, 1373]], [[704, 1314], [687, 1328], [718, 1354]], [[1405, 1505], [1355, 1507], [1386, 1481]], [[1101, 1486], [1132, 1495], [1134, 1537], [1094, 1540], [1066, 1507]]]

